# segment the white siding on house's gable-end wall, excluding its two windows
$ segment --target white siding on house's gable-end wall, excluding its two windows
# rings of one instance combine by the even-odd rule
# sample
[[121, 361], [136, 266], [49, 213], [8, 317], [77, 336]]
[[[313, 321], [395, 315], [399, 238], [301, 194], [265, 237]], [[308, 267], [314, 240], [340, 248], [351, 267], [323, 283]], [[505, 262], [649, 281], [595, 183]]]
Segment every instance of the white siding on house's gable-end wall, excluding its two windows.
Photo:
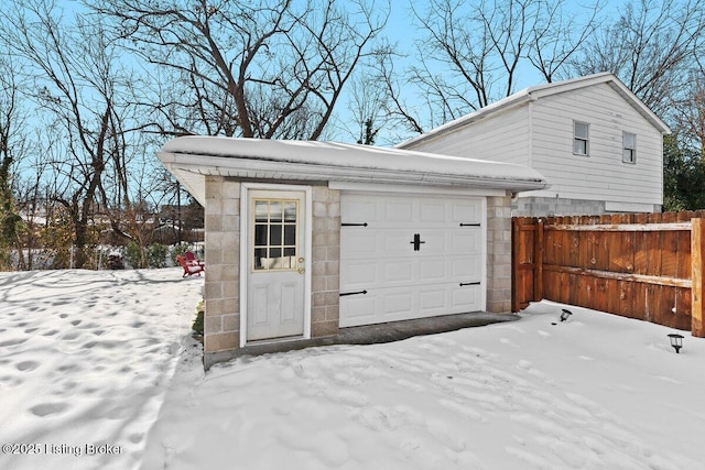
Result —
[[[663, 138], [609, 85], [544, 97], [534, 103], [532, 114], [532, 167], [551, 187], [528, 196], [662, 204]], [[590, 123], [589, 159], [566, 159], [573, 121]], [[634, 165], [618, 164], [625, 129], [639, 135]]]

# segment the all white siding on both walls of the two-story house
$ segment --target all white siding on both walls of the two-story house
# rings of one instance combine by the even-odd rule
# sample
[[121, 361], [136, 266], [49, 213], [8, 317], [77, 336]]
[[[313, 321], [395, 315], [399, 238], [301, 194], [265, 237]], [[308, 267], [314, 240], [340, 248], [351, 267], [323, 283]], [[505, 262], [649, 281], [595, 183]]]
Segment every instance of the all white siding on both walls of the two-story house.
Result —
[[[572, 157], [575, 121], [590, 124], [589, 159]], [[619, 164], [625, 129], [639, 135], [633, 165]], [[608, 84], [539, 97], [408, 149], [531, 166], [551, 187], [528, 197], [643, 205], [663, 199], [661, 132]]]

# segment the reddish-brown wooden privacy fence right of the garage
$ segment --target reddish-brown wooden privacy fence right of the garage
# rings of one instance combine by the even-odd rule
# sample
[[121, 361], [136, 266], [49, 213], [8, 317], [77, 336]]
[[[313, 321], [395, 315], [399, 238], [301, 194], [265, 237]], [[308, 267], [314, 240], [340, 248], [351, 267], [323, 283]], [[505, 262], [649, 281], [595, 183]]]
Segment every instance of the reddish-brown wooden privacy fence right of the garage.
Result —
[[512, 218], [512, 311], [541, 299], [704, 337], [705, 211]]

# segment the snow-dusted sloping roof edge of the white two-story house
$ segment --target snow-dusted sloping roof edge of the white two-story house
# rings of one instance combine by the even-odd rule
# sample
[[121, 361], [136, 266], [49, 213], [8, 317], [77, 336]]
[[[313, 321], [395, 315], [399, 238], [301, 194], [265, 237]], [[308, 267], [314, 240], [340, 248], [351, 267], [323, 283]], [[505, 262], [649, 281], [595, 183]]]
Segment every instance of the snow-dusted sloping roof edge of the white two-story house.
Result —
[[513, 95], [508, 96], [505, 99], [496, 101], [485, 108], [480, 108], [477, 111], [463, 116], [458, 119], [449, 121], [443, 125], [432, 129], [415, 138], [409, 139], [399, 145], [398, 149], [406, 149], [419, 142], [426, 141], [446, 132], [454, 131], [455, 129], [468, 125], [480, 119], [488, 118], [490, 116], [498, 114], [502, 111], [516, 108], [524, 105], [529, 101], [534, 101], [551, 95], [557, 95], [566, 91], [572, 91], [579, 88], [590, 87], [594, 85], [607, 84], [615, 91], [617, 91], [631, 107], [633, 107], [647, 121], [651, 123], [659, 132], [669, 134], [671, 129], [663, 122], [647, 105], [643, 103], [619, 78], [608, 72], [595, 75], [587, 75], [585, 77], [572, 78], [564, 81], [555, 81], [552, 84], [538, 85], [534, 87], [525, 88]]

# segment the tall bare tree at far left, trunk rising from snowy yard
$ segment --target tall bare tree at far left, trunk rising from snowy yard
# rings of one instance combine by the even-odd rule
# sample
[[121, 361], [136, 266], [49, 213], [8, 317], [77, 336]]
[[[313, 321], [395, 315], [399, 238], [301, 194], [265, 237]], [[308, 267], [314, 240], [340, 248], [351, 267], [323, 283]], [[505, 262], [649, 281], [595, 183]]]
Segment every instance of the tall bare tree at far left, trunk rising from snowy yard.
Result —
[[123, 98], [130, 79], [99, 23], [78, 15], [70, 22], [51, 0], [15, 3], [0, 18], [4, 46], [25, 61], [23, 73], [34, 80], [29, 97], [51, 130], [52, 139], [40, 142], [50, 157], [50, 197], [68, 214], [80, 267], [97, 203], [128, 197], [130, 130], [124, 124], [130, 105]]

